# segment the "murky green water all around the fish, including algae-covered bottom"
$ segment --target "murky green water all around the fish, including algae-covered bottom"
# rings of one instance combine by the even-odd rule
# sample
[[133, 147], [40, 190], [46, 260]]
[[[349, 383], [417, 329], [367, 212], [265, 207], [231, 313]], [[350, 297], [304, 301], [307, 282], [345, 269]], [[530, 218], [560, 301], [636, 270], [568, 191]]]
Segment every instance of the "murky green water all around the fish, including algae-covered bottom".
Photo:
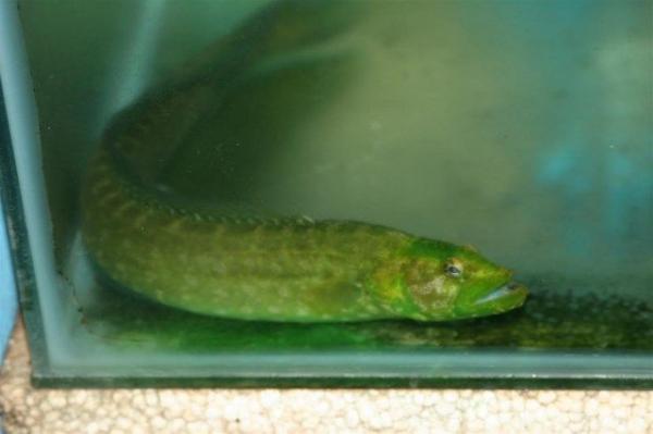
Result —
[[[61, 297], [73, 307], [63, 317], [82, 343], [61, 369], [79, 368], [75, 354], [86, 347], [97, 356], [83, 363], [88, 375], [101, 367], [136, 377], [144, 374], [116, 367], [136, 360], [184, 376], [193, 355], [334, 350], [398, 351], [405, 360], [432, 351], [438, 363], [442, 349], [480, 351], [482, 365], [482, 351], [496, 349], [510, 372], [518, 362], [509, 357], [522, 350], [650, 354], [648, 1], [370, 1], [356, 13], [337, 2], [352, 8], [346, 25], [323, 15], [332, 22], [311, 23], [331, 29], [325, 41], [291, 47], [231, 83], [227, 102], [198, 111], [206, 123], [156, 179], [192, 201], [471, 244], [528, 284], [523, 309], [463, 323], [270, 325], [160, 307], [96, 278], [75, 210], [107, 120], [263, 3], [23, 2], [54, 246], [67, 282]], [[104, 35], [100, 49], [79, 32]], [[69, 61], [50, 61], [52, 35]], [[243, 44], [262, 44], [257, 37]], [[212, 64], [210, 55], [199, 59]], [[532, 363], [528, 372], [544, 369]]]

